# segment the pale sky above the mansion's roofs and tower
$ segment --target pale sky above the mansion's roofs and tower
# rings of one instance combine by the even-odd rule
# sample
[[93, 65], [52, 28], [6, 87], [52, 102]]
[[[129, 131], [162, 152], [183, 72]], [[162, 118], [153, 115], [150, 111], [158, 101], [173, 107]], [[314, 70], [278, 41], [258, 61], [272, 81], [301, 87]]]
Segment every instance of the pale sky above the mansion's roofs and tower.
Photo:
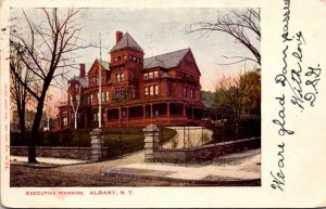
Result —
[[[210, 36], [200, 34], [186, 34], [189, 24], [198, 22], [214, 22], [218, 15], [226, 14], [224, 9], [82, 9], [78, 22], [82, 24], [80, 37], [86, 42], [97, 42], [101, 38], [102, 60], [110, 62], [109, 51], [115, 44], [115, 31], [128, 31], [145, 52], [145, 57], [150, 57], [167, 52], [190, 48], [201, 71], [202, 90], [214, 90], [218, 79], [225, 76], [234, 76], [244, 68], [253, 67], [253, 63], [247, 62], [236, 65], [220, 65], [229, 63], [225, 56], [251, 56], [249, 51], [235, 40], [222, 32], [213, 32]], [[41, 13], [28, 10], [27, 14], [40, 19]], [[100, 36], [101, 34], [101, 36]], [[88, 48], [78, 51], [76, 62], [85, 63], [86, 70], [97, 57], [100, 50]], [[252, 56], [251, 56], [252, 57]], [[246, 66], [244, 66], [246, 65]], [[72, 69], [71, 76], [78, 75], [78, 70]]]

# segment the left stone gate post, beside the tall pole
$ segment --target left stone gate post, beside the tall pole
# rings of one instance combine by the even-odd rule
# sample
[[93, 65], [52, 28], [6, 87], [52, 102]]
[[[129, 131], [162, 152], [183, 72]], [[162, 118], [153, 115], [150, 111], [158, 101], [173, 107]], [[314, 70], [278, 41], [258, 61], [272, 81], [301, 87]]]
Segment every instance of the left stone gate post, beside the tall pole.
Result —
[[99, 161], [103, 159], [103, 134], [101, 129], [93, 129], [90, 132], [91, 144], [91, 161]]

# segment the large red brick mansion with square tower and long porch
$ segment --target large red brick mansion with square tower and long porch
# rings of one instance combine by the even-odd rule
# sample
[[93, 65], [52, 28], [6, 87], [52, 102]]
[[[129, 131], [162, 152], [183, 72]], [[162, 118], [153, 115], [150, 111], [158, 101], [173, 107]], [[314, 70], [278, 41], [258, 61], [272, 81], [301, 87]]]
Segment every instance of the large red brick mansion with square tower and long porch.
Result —
[[[98, 126], [99, 97], [102, 127], [179, 126], [202, 121], [201, 74], [190, 49], [143, 58], [142, 49], [131, 36], [116, 31], [116, 44], [110, 55], [111, 63], [96, 60], [87, 75], [85, 64], [80, 64], [79, 77], [68, 81], [73, 103], [80, 100], [78, 128]], [[74, 114], [70, 99], [67, 101], [59, 107], [58, 129], [74, 127]]]

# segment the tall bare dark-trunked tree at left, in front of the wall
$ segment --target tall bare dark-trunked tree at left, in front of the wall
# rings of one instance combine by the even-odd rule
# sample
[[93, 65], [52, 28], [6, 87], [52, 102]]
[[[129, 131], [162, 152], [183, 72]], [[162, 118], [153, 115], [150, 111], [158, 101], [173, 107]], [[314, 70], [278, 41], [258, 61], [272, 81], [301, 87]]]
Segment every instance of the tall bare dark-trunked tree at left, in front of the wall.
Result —
[[[38, 19], [33, 19], [24, 10], [22, 13], [26, 28], [18, 28], [18, 25], [14, 25], [11, 29], [10, 41], [15, 50], [18, 50], [20, 45], [26, 50], [26, 56], [21, 56], [21, 58], [26, 69], [40, 84], [39, 90], [28, 86], [20, 77], [18, 71], [13, 70], [12, 74], [37, 102], [28, 146], [28, 162], [37, 162], [36, 142], [49, 87], [57, 76], [63, 75], [66, 67], [74, 65], [74, 52], [86, 47], [78, 45], [82, 28], [77, 24], [77, 10], [41, 9], [43, 16]], [[24, 26], [24, 23], [21, 22], [20, 27], [22, 25]], [[60, 69], [62, 69], [61, 73]]]

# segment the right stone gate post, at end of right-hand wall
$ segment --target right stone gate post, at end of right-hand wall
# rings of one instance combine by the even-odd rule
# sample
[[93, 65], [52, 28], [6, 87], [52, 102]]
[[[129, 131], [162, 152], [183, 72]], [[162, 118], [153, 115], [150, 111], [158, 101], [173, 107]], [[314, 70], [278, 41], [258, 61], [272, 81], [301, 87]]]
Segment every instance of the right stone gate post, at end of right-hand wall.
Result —
[[159, 148], [159, 131], [156, 125], [149, 125], [143, 130], [145, 134], [145, 161], [154, 161], [154, 151]]

